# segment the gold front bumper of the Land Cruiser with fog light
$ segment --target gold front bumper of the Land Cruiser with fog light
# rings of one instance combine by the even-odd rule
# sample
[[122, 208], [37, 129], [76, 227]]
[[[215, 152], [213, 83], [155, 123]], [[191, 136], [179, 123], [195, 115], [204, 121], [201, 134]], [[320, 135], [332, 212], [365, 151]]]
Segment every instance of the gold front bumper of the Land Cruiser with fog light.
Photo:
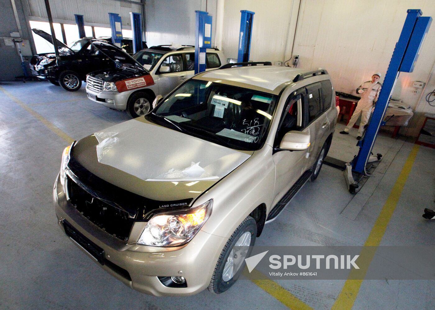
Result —
[[[122, 242], [91, 223], [75, 209], [67, 200], [59, 176], [54, 183], [53, 203], [62, 230], [62, 221], [67, 220], [77, 231], [104, 250], [104, 259], [110, 263], [97, 263], [100, 267], [134, 290], [154, 296], [193, 295], [204, 290], [210, 283], [218, 257], [227, 242], [226, 238], [202, 230], [187, 245], [177, 248]], [[145, 224], [135, 223], [131, 236], [140, 234]], [[84, 248], [80, 248], [92, 257]], [[161, 253], [161, 257], [150, 257], [152, 254], [159, 256], [157, 253]], [[183, 276], [187, 287], [166, 287], [157, 278], [171, 276]]]

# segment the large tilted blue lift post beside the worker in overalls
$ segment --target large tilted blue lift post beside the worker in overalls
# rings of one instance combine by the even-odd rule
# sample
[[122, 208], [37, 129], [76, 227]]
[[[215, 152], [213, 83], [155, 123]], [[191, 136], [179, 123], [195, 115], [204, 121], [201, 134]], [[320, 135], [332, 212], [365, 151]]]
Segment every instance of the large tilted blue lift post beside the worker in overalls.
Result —
[[[402, 33], [396, 43], [393, 55], [391, 56], [390, 64], [381, 93], [379, 94], [378, 102], [371, 116], [371, 120], [365, 131], [364, 137], [358, 142], [360, 147], [358, 155], [351, 161], [351, 165], [347, 165], [346, 173], [348, 179], [351, 176], [350, 169], [353, 173], [366, 175], [366, 166], [371, 156], [371, 150], [375, 144], [376, 136], [379, 128], [385, 125], [383, 121], [391, 94], [394, 90], [396, 80], [400, 72], [412, 72], [415, 62], [418, 58], [420, 47], [422, 46], [425, 34], [428, 32], [432, 17], [422, 17], [421, 10], [408, 10], [408, 15], [403, 25]], [[379, 158], [378, 158], [379, 159]], [[348, 186], [351, 181], [348, 181]], [[353, 183], [353, 190], [355, 185]], [[352, 192], [352, 183], [349, 191]]]

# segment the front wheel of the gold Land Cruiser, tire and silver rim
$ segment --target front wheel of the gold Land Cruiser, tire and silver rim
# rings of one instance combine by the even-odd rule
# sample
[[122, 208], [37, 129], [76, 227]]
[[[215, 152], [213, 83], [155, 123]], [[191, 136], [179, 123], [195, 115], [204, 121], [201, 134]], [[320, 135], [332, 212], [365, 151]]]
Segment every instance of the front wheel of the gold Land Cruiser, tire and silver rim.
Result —
[[[244, 259], [251, 254], [251, 247], [255, 243], [256, 236], [257, 223], [251, 216], [248, 216], [231, 235], [219, 256], [218, 263], [214, 268], [213, 276], [208, 285], [208, 290], [210, 292], [215, 294], [223, 293], [237, 281], [243, 270]], [[237, 250], [233, 253], [234, 246], [248, 245], [248, 251]], [[234, 257], [237, 256], [237, 254], [239, 254], [237, 260], [234, 260]], [[233, 269], [234, 264], [238, 269], [235, 272]]]

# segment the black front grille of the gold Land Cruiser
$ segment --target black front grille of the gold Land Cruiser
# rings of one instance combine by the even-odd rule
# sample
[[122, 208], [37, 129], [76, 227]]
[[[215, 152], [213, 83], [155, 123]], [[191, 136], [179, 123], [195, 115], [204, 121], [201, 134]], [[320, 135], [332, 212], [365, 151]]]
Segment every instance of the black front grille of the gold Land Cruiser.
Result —
[[120, 240], [127, 241], [134, 219], [129, 214], [93, 197], [70, 177], [67, 177], [70, 202], [84, 217]]

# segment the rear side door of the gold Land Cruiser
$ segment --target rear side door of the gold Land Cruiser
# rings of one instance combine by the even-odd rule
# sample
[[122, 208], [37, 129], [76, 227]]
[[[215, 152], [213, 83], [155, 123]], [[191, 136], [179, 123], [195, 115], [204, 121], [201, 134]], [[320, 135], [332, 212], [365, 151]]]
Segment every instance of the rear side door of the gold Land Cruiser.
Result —
[[311, 133], [310, 155], [305, 169], [309, 169], [318, 157], [318, 154], [325, 143], [329, 133], [329, 121], [326, 117], [322, 100], [321, 83], [313, 83], [305, 87], [306, 102], [308, 110], [308, 128]]

